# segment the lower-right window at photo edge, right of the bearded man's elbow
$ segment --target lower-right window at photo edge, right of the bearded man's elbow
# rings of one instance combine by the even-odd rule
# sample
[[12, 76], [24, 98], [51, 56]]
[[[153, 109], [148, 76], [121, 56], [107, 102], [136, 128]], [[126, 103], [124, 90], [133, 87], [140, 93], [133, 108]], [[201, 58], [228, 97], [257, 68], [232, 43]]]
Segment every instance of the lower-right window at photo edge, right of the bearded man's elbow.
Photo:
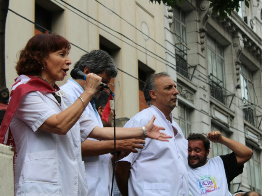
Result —
[[253, 150], [252, 158], [247, 162], [248, 184], [252, 191], [261, 193], [261, 169], [260, 169], [260, 152], [253, 146], [247, 144]]

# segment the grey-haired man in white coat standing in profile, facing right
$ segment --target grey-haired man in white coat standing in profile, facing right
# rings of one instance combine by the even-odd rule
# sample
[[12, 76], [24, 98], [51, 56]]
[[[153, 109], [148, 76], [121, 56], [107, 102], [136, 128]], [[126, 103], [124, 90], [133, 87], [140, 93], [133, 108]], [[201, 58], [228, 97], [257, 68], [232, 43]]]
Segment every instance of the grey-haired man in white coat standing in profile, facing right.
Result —
[[123, 196], [189, 196], [188, 142], [171, 112], [177, 105], [175, 82], [167, 73], [153, 75], [145, 84], [149, 108], [139, 112], [124, 127], [155, 123], [172, 135], [169, 142], [146, 139], [144, 149], [117, 162], [116, 180]]

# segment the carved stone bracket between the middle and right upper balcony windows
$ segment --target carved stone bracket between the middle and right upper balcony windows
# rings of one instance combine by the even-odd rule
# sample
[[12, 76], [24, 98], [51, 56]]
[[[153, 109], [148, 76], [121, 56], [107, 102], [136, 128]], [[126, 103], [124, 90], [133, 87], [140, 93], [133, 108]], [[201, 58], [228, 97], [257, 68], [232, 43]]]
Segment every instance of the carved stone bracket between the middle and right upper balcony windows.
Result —
[[[237, 75], [237, 82], [240, 80], [240, 56], [242, 54], [242, 51], [244, 49], [244, 42], [241, 33], [237, 32], [233, 36], [233, 47], [236, 51], [235, 55], [235, 69], [236, 69], [236, 75]], [[239, 85], [237, 85], [237, 89], [239, 89]]]

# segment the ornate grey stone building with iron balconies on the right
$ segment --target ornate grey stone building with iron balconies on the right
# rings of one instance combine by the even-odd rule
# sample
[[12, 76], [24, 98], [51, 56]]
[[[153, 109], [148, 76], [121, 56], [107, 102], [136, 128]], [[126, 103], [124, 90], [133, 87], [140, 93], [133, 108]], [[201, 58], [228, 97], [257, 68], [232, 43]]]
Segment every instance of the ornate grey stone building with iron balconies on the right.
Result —
[[[261, 193], [261, 1], [221, 19], [208, 0], [165, 9], [167, 70], [177, 82], [176, 121], [184, 135], [220, 130], [249, 146], [253, 158], [231, 192]], [[209, 158], [230, 153], [212, 144]]]

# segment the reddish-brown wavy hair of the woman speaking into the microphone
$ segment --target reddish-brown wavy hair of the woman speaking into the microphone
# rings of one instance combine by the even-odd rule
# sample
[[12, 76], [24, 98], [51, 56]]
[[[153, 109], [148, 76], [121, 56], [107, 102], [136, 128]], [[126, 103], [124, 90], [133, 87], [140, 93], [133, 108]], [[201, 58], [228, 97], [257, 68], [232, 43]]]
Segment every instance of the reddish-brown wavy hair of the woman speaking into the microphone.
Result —
[[15, 66], [18, 75], [38, 75], [45, 65], [45, 58], [50, 52], [56, 52], [63, 48], [71, 49], [71, 45], [57, 34], [38, 34], [32, 37], [23, 50], [19, 52], [19, 59]]

